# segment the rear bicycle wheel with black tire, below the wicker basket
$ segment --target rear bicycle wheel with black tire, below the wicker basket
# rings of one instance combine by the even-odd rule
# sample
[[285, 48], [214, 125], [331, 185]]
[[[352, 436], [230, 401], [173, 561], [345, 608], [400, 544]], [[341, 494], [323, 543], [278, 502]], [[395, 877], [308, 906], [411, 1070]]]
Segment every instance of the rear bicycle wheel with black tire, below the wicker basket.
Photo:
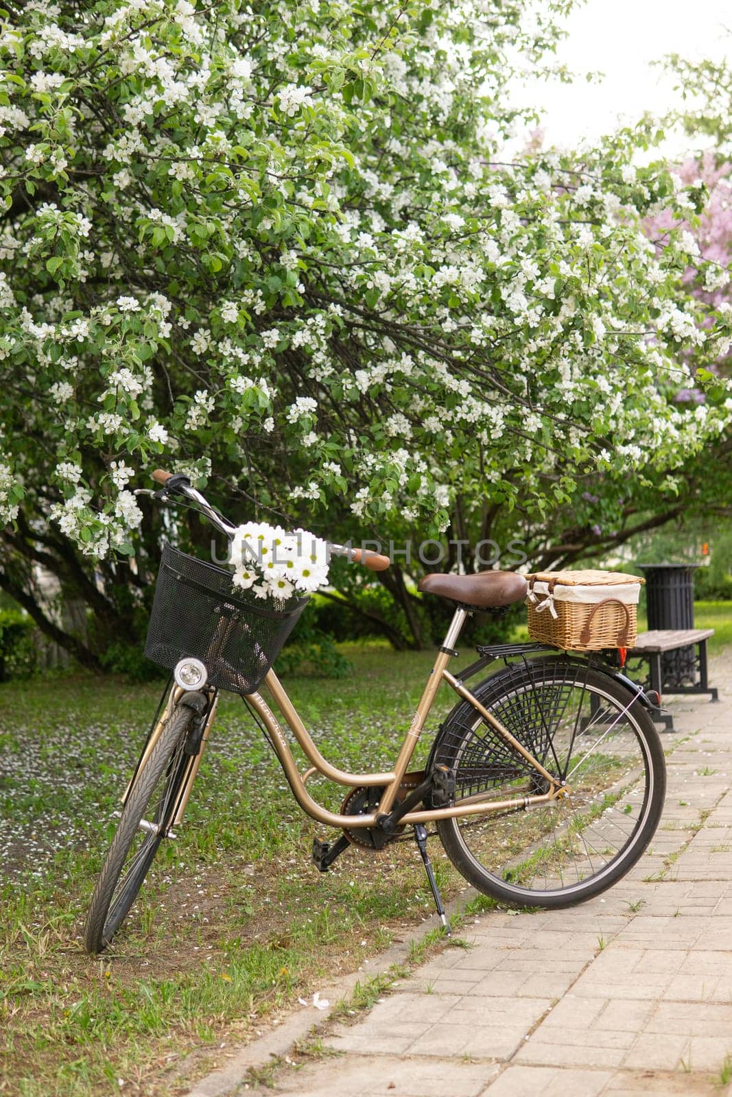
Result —
[[[503, 903], [552, 908], [599, 895], [635, 864], [663, 811], [664, 754], [647, 711], [621, 682], [567, 659], [510, 666], [474, 693], [570, 793], [440, 819], [448, 857]], [[468, 701], [450, 713], [431, 760], [454, 771], [457, 803], [548, 791], [547, 779]]]

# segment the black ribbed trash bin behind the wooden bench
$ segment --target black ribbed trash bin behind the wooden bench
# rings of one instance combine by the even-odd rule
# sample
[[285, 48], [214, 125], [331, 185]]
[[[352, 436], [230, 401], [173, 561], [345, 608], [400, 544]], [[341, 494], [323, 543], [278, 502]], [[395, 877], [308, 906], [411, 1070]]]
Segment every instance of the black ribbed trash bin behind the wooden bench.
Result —
[[[649, 629], [694, 629], [694, 573], [700, 564], [639, 564], [645, 575]], [[661, 657], [664, 689], [696, 682], [691, 647]]]

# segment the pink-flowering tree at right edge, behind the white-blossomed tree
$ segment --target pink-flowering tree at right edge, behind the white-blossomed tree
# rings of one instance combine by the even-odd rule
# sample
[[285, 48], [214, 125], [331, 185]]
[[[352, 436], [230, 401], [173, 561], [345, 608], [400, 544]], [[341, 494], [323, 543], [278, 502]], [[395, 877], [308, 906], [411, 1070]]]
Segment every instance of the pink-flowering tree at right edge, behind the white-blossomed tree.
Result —
[[[702, 134], [706, 132], [700, 131]], [[697, 134], [697, 137], [699, 134]], [[705, 137], [708, 140], [708, 137]], [[678, 213], [664, 210], [645, 224], [649, 238], [664, 246], [666, 234], [680, 230], [690, 256], [683, 275], [686, 289], [710, 306], [708, 323], [714, 315], [730, 315], [730, 262], [732, 261], [732, 174], [727, 156], [707, 148], [674, 168], [680, 183], [707, 192], [698, 217], [678, 219]], [[716, 347], [717, 361], [707, 361], [707, 350]], [[724, 405], [729, 410], [729, 384], [732, 358], [724, 339], [701, 343], [691, 341], [683, 352], [688, 383], [669, 389], [672, 402], [684, 408], [683, 415], [703, 421], [710, 406]], [[710, 440], [696, 455], [683, 463], [656, 465], [649, 475], [623, 483], [618, 471], [586, 474], [581, 478], [568, 506], [558, 507], [550, 523], [531, 522], [515, 516], [511, 533], [521, 528], [523, 547], [538, 568], [566, 565], [581, 558], [604, 557], [628, 542], [668, 521], [685, 522], [691, 517], [706, 520], [732, 516], [732, 432], [729, 427]], [[518, 521], [516, 520], [518, 519]], [[505, 517], [504, 517], [505, 520]]]

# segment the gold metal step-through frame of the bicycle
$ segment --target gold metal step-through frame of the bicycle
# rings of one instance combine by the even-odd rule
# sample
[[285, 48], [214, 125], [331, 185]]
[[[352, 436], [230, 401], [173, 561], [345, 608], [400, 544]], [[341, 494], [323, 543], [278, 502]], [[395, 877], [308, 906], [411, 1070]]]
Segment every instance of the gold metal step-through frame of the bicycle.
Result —
[[[327, 761], [313, 742], [313, 738], [300, 719], [300, 715], [288, 697], [280, 679], [273, 670], [270, 670], [264, 678], [264, 686], [267, 686], [274, 704], [284, 717], [285, 723], [305, 754], [305, 757], [311, 762], [309, 769], [307, 769], [304, 773], [301, 773], [282, 726], [267, 701], [259, 693], [249, 693], [247, 695], [247, 701], [267, 728], [272, 746], [277, 751], [277, 756], [282, 765], [290, 783], [290, 788], [292, 789], [297, 803], [307, 815], [317, 819], [318, 823], [324, 823], [327, 826], [334, 827], [348, 827], [349, 829], [352, 829], [356, 827], [375, 826], [378, 817], [380, 815], [387, 814], [392, 810], [399, 788], [403, 787], [403, 783], [408, 778], [407, 767], [412, 756], [414, 755], [419, 736], [424, 731], [437, 690], [442, 681], [447, 682], [448, 686], [450, 686], [461, 698], [469, 701], [476, 712], [480, 713], [483, 720], [486, 721], [486, 723], [488, 723], [491, 727], [493, 727], [494, 731], [496, 731], [514, 750], [521, 755], [525, 761], [527, 761], [530, 766], [533, 766], [537, 772], [540, 773], [544, 780], [549, 781], [549, 791], [543, 794], [517, 796], [513, 800], [489, 801], [485, 803], [477, 802], [476, 798], [471, 796], [471, 802], [469, 804], [454, 804], [452, 807], [433, 807], [425, 811], [408, 812], [399, 819], [399, 826], [407, 826], [415, 823], [427, 823], [430, 819], [455, 818], [461, 815], [481, 815], [489, 812], [503, 812], [508, 811], [511, 807], [528, 807], [530, 804], [548, 803], [567, 794], [568, 790], [561, 784], [560, 781], [558, 781], [558, 779], [553, 777], [541, 765], [541, 762], [538, 761], [533, 755], [518, 742], [514, 735], [511, 735], [508, 728], [504, 727], [500, 721], [498, 721], [491, 712], [488, 712], [487, 709], [485, 709], [484, 705], [481, 704], [477, 698], [475, 698], [469, 689], [465, 689], [462, 682], [448, 671], [448, 663], [451, 658], [450, 652], [458, 641], [466, 615], [466, 610], [455, 610], [447, 636], [444, 637], [444, 644], [435, 659], [435, 665], [430, 671], [429, 678], [427, 679], [419, 704], [417, 705], [409, 730], [406, 733], [404, 743], [399, 749], [394, 769], [388, 772], [349, 773], [345, 770], [338, 769], [336, 766], [333, 766], [329, 761]], [[379, 807], [375, 812], [363, 815], [339, 815], [336, 812], [330, 812], [327, 808], [322, 807], [320, 804], [313, 800], [305, 788], [306, 782], [316, 773], [319, 773], [338, 784], [347, 787], [359, 788], [362, 785], [384, 785]]]

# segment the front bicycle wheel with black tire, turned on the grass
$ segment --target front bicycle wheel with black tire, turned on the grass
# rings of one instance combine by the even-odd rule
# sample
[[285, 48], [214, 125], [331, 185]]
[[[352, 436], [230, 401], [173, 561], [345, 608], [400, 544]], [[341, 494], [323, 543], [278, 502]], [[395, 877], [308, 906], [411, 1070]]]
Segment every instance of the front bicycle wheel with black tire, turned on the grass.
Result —
[[[137, 773], [99, 874], [83, 929], [87, 952], [102, 952], [129, 913], [147, 871], [174, 818], [191, 757], [185, 740], [195, 712], [179, 704]], [[159, 827], [146, 833], [145, 818]]]

